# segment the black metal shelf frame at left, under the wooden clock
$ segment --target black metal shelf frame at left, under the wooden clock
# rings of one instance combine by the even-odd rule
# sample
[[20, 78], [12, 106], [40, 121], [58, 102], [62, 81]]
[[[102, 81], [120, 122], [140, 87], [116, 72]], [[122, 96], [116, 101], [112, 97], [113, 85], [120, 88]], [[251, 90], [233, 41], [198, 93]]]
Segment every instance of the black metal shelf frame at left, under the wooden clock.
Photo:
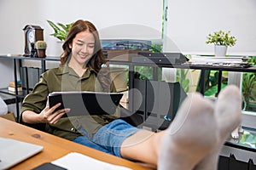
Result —
[[[26, 94], [29, 94], [29, 89], [24, 89], [22, 90], [22, 93], [18, 94], [17, 90], [17, 79], [18, 79], [18, 69], [22, 67], [22, 60], [38, 60], [41, 62], [41, 69], [42, 72], [46, 71], [46, 61], [60, 61], [58, 57], [50, 57], [47, 56], [46, 58], [32, 58], [32, 57], [25, 57], [25, 56], [7, 56], [7, 55], [0, 55], [0, 59], [11, 59], [13, 61], [13, 67], [14, 67], [14, 78], [15, 78], [15, 93], [10, 93], [8, 88], [0, 88], [0, 93], [1, 94], [8, 94], [10, 96], [15, 97], [14, 99], [9, 99], [8, 103], [11, 103], [11, 101], [15, 100], [15, 105], [16, 105], [16, 112], [17, 112], [17, 117], [16, 120], [18, 121], [20, 118], [20, 107], [19, 103], [22, 101], [22, 99], [26, 96]], [[29, 78], [29, 77], [28, 77]]]

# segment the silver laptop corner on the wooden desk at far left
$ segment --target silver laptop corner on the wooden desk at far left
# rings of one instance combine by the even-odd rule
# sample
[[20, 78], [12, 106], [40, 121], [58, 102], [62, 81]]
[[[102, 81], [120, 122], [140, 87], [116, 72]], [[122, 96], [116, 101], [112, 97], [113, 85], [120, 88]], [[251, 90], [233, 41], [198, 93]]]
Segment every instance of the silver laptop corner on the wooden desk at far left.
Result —
[[43, 149], [44, 147], [38, 144], [0, 137], [0, 169], [13, 167], [20, 161], [38, 154]]

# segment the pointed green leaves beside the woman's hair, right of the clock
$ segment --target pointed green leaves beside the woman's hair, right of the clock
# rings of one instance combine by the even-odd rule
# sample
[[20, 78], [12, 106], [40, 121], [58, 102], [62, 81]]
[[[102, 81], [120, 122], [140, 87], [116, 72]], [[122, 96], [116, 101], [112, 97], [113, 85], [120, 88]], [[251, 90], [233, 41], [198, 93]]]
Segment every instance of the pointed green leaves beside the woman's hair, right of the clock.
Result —
[[56, 37], [61, 41], [65, 40], [65, 38], [67, 37], [67, 32], [69, 31], [69, 29], [73, 25], [73, 23], [61, 24], [59, 22], [55, 24], [51, 20], [47, 20], [47, 22], [49, 23], [49, 26], [51, 26], [55, 31], [55, 33], [50, 34], [50, 36]]

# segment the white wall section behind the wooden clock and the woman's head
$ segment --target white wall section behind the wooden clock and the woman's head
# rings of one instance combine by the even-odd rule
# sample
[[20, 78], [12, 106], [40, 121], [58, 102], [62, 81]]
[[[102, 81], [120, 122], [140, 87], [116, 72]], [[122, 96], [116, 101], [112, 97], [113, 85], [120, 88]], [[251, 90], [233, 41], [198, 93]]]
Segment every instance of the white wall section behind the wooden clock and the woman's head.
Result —
[[59, 56], [61, 45], [49, 36], [54, 31], [46, 20], [90, 20], [102, 38], [160, 39], [161, 13], [161, 0], [0, 0], [0, 54], [23, 54], [22, 29], [31, 24], [44, 29], [47, 55]]

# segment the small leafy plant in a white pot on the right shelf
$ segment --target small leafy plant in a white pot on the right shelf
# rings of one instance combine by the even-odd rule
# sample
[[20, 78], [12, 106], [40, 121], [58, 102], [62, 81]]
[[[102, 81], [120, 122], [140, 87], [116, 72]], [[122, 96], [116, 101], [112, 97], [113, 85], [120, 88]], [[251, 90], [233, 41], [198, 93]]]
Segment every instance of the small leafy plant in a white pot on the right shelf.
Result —
[[236, 37], [230, 36], [230, 31], [224, 32], [220, 30], [208, 34], [206, 43], [214, 44], [215, 56], [225, 56], [227, 48], [236, 44]]

